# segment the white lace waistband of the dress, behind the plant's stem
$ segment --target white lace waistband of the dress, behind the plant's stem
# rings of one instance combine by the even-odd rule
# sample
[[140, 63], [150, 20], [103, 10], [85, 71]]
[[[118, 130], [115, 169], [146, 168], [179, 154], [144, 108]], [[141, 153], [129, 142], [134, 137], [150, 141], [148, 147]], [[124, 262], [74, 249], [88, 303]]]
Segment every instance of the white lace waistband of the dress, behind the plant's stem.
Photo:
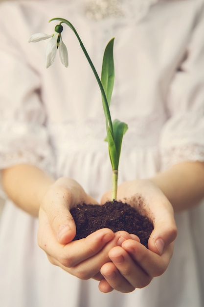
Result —
[[[161, 123], [157, 117], [139, 120], [133, 118], [128, 122], [129, 128], [123, 138], [123, 151], [130, 151], [133, 147], [150, 147], [158, 144], [159, 132], [144, 136], [146, 127], [151, 131], [159, 131]], [[59, 154], [79, 150], [102, 151], [107, 150], [106, 128], [104, 119], [84, 122], [79, 125], [73, 123], [50, 123], [48, 126], [53, 147]]]

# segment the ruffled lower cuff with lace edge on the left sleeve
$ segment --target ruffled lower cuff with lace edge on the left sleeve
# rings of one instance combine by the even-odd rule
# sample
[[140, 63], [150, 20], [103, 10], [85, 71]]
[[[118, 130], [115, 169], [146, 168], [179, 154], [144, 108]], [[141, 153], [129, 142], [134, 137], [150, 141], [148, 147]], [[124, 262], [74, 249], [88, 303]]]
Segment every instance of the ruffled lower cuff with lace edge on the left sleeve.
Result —
[[0, 169], [30, 163], [52, 169], [53, 155], [43, 126], [2, 121], [0, 123]]

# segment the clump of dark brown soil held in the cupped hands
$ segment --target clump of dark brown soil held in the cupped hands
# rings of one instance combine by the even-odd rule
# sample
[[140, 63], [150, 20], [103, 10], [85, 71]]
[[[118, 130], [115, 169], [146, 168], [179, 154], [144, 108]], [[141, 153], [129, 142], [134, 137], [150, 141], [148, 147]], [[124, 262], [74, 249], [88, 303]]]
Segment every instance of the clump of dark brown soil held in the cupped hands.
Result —
[[134, 233], [140, 238], [141, 244], [147, 247], [154, 228], [151, 221], [136, 208], [117, 201], [104, 205], [77, 205], [70, 213], [76, 224], [74, 240], [85, 238], [101, 228], [109, 228], [113, 232], [125, 230]]

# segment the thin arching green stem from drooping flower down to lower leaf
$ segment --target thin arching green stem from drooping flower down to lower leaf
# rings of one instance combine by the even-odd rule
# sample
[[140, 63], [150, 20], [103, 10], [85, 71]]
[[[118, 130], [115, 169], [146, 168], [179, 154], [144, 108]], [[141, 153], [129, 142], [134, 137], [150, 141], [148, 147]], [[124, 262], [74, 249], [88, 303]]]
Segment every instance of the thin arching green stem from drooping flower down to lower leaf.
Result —
[[96, 69], [95, 69], [95, 67], [94, 67], [94, 65], [93, 65], [93, 63], [91, 61], [90, 56], [89, 56], [86, 48], [84, 47], [84, 44], [82, 43], [81, 38], [79, 37], [79, 34], [77, 33], [75, 27], [67, 19], [57, 17], [57, 18], [50, 19], [49, 22], [55, 21], [55, 20], [60, 21], [61, 22], [60, 24], [64, 23], [67, 26], [69, 26], [71, 28], [71, 30], [74, 32], [74, 34], [76, 35], [76, 37], [77, 37], [77, 39], [79, 41], [79, 44], [80, 44], [80, 46], [81, 46], [81, 48], [82, 48], [82, 50], [83, 50], [83, 52], [84, 52], [84, 54], [85, 54], [89, 64], [91, 66], [93, 74], [96, 77], [96, 80], [98, 82], [99, 88], [101, 90], [101, 95], [102, 95], [104, 103], [105, 103], [105, 107], [103, 109], [104, 109], [104, 113], [105, 113], [105, 117], [106, 117], [106, 129], [107, 130], [110, 129], [111, 134], [113, 135], [113, 124], [112, 124], [111, 114], [110, 114], [110, 110], [109, 110], [109, 104], [108, 104], [108, 101], [107, 101], [107, 98], [106, 98], [106, 94], [105, 94], [103, 85], [102, 85], [100, 77], [98, 76], [98, 73], [96, 72]]

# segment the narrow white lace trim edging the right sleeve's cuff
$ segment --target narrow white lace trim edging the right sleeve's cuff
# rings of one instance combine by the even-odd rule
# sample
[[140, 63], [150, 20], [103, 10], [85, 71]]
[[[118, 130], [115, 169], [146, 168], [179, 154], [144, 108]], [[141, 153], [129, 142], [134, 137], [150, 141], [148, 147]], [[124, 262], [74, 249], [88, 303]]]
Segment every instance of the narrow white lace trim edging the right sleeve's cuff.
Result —
[[174, 164], [184, 161], [204, 162], [204, 146], [198, 144], [185, 145], [183, 147], [174, 147], [162, 151], [161, 167], [167, 169]]

